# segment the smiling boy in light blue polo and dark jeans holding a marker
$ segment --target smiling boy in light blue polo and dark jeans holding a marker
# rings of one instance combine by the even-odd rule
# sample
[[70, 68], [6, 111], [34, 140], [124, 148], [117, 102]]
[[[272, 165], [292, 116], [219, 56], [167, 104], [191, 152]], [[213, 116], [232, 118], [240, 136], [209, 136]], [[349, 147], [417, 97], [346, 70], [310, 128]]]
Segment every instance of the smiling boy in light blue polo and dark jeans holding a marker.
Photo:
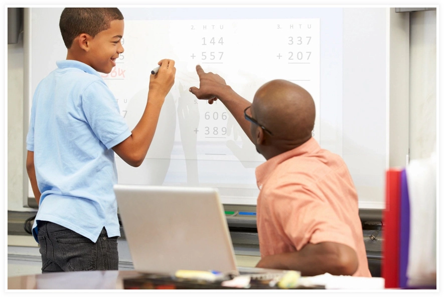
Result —
[[144, 113], [129, 131], [98, 73], [110, 73], [123, 53], [122, 14], [116, 8], [66, 8], [59, 25], [67, 57], [38, 85], [27, 136], [27, 171], [39, 203], [33, 235], [44, 273], [116, 270], [114, 152], [131, 166], [142, 163], [174, 84], [175, 62], [159, 62]]

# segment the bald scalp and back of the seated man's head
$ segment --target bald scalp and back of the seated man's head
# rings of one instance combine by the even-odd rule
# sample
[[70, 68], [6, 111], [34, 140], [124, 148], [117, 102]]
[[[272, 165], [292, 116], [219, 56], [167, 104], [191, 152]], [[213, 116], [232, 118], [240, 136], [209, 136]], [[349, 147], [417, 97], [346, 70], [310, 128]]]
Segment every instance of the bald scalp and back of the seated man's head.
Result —
[[254, 95], [251, 112], [273, 133], [273, 144], [299, 146], [312, 136], [315, 102], [309, 92], [289, 81], [273, 80], [261, 86]]

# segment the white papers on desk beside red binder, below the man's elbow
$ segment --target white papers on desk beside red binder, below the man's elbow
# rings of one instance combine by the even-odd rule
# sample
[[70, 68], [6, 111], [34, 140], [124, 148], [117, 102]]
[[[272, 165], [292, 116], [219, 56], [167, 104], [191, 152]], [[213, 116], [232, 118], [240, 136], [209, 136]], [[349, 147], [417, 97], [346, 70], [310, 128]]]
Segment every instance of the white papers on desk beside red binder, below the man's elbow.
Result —
[[326, 289], [384, 289], [384, 278], [324, 273], [316, 276], [302, 276], [299, 285], [307, 287], [324, 285]]

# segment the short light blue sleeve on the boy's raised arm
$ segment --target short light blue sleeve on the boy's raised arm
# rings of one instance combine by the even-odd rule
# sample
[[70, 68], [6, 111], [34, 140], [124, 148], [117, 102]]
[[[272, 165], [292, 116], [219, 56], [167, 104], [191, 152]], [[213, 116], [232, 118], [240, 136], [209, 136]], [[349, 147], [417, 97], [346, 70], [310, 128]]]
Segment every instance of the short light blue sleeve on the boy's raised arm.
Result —
[[114, 95], [104, 82], [95, 81], [85, 89], [82, 109], [92, 131], [107, 149], [131, 135]]

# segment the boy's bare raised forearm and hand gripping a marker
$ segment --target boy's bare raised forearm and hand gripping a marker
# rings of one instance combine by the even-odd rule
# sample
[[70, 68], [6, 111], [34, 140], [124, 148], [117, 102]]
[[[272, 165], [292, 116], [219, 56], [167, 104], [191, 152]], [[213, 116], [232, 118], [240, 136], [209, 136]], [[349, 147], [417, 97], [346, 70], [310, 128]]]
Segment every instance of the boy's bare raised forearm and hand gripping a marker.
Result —
[[153, 141], [162, 105], [174, 84], [176, 75], [174, 64], [173, 60], [159, 62], [161, 65], [159, 72], [150, 76], [148, 98], [140, 121], [128, 138], [112, 148], [123, 161], [131, 166], [138, 167], [142, 164]]

